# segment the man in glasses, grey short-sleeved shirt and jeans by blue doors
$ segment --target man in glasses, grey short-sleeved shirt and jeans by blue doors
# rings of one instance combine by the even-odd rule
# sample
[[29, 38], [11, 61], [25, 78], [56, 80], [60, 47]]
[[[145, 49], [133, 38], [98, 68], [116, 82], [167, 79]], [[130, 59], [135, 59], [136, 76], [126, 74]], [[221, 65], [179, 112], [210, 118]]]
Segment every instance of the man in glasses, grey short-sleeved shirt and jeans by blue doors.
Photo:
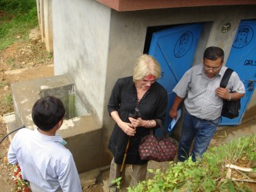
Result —
[[223, 66], [223, 61], [224, 51], [221, 48], [206, 48], [203, 63], [186, 71], [173, 89], [176, 97], [169, 112], [170, 117], [177, 118], [178, 106], [183, 99], [186, 109], [178, 161], [188, 159], [193, 140], [192, 161], [196, 161], [196, 157], [202, 157], [220, 120], [223, 99], [231, 101], [244, 96], [244, 84], [236, 72], [231, 74], [227, 87], [220, 88], [221, 78], [227, 69]]

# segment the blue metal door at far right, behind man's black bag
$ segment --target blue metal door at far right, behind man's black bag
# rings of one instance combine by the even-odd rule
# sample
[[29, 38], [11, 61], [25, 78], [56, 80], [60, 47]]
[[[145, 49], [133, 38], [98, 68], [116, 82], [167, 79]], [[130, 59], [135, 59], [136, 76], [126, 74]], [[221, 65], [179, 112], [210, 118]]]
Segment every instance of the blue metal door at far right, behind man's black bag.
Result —
[[256, 81], [256, 20], [242, 21], [238, 27], [226, 66], [236, 71], [244, 83], [246, 93], [241, 98], [238, 118], [222, 118], [221, 125], [241, 124], [244, 111], [251, 100]]

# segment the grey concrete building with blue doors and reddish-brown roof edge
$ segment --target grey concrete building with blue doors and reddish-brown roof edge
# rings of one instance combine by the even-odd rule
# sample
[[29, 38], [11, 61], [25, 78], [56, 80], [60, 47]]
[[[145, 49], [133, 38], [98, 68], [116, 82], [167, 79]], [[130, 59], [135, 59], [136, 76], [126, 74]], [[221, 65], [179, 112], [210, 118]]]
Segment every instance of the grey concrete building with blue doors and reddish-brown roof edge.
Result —
[[[115, 81], [132, 75], [135, 61], [143, 53], [154, 55], [159, 58], [160, 63], [163, 60], [161, 57], [165, 57], [167, 64], [161, 63], [165, 71], [161, 82], [165, 84], [168, 78], [175, 76], [166, 66], [175, 67], [178, 63], [185, 63], [183, 71], [175, 69], [178, 73], [178, 78], [175, 78], [177, 82], [185, 69], [202, 61], [204, 48], [211, 45], [221, 47], [225, 52], [224, 63], [240, 71], [240, 76], [245, 74], [250, 76], [248, 79], [243, 78], [243, 82], [251, 90], [247, 90], [248, 95], [242, 101], [241, 117], [238, 120], [227, 121], [225, 125], [241, 124], [245, 111], [253, 111], [256, 108], [253, 86], [256, 79], [256, 56], [251, 52], [256, 50], [254, 37], [256, 2], [253, 0], [214, 2], [211, 0], [38, 0], [37, 2], [41, 29], [44, 35], [48, 34], [44, 36], [47, 39], [45, 43], [49, 47], [53, 45], [55, 77], [38, 80], [37, 83], [41, 85], [30, 90], [36, 93], [35, 99], [31, 101], [35, 101], [39, 97], [38, 93], [42, 93], [42, 84], [47, 84], [51, 90], [69, 86], [68, 93], [75, 92], [81, 108], [85, 108], [86, 112], [82, 116], [86, 118], [82, 120], [83, 123], [75, 125], [79, 128], [74, 128], [73, 125], [72, 128], [62, 130], [62, 133], [69, 141], [68, 148], [74, 154], [79, 172], [110, 164], [108, 138], [114, 121], [107, 111], [108, 98]], [[251, 31], [247, 41], [248, 46], [235, 46], [234, 41], [238, 38], [239, 29], [243, 27]], [[170, 31], [171, 33], [168, 34], [170, 38], [162, 39], [165, 33]], [[188, 41], [190, 46], [183, 55], [178, 55], [177, 42], [185, 37], [182, 35], [187, 36], [191, 41]], [[170, 47], [165, 42], [161, 45], [162, 40], [170, 41]], [[154, 45], [156, 41], [157, 44]], [[162, 56], [156, 54], [158, 45], [160, 49], [164, 48], [164, 51], [161, 50]], [[169, 56], [165, 55], [165, 51], [168, 52], [169, 49], [172, 56], [171, 53]], [[236, 52], [239, 50], [241, 55]], [[183, 57], [184, 55], [186, 57]], [[240, 63], [233, 64], [230, 55]], [[53, 85], [52, 82], [55, 84]], [[12, 88], [18, 88], [18, 85]], [[168, 91], [168, 96], [169, 108], [172, 99], [171, 90]], [[18, 101], [17, 95], [14, 95], [14, 98], [16, 98], [15, 112], [18, 114], [16, 116], [27, 117], [29, 111], [24, 112], [25, 114], [21, 112], [25, 103]], [[31, 108], [32, 104], [28, 104], [26, 108]], [[78, 115], [76, 118], [80, 117], [81, 115]], [[19, 124], [22, 123], [27, 127], [31, 124], [28, 121]], [[177, 126], [178, 133], [180, 124]]]

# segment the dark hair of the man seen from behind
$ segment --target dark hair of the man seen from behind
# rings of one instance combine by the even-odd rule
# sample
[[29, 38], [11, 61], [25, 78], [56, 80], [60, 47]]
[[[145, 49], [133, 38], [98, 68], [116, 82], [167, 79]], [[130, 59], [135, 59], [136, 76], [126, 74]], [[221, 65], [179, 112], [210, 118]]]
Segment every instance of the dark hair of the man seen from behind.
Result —
[[65, 108], [62, 100], [53, 96], [41, 98], [35, 102], [32, 108], [32, 119], [35, 125], [49, 131], [64, 118]]

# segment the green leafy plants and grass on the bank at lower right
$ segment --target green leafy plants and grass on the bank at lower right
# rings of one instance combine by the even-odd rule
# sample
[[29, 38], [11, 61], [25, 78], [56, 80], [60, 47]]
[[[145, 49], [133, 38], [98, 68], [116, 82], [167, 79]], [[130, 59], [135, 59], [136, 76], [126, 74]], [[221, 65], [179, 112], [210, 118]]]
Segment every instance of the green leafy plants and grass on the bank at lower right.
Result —
[[[168, 170], [149, 170], [153, 179], [142, 181], [131, 191], [252, 191], [247, 183], [225, 178], [226, 164], [245, 165], [256, 160], [256, 134], [240, 137], [230, 144], [211, 147], [200, 161], [170, 163]], [[238, 177], [236, 171], [232, 177]]]

